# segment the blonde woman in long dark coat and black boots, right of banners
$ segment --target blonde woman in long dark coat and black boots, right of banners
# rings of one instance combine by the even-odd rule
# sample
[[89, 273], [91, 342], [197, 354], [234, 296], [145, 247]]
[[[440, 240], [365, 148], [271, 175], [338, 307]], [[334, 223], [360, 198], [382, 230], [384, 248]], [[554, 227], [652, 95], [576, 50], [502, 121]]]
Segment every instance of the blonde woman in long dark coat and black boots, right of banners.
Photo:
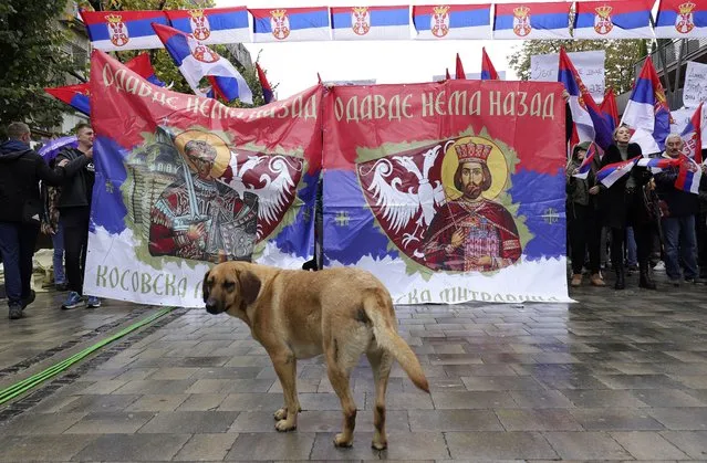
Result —
[[[626, 126], [614, 130], [614, 143], [606, 149], [602, 158], [602, 167], [614, 162], [643, 156], [641, 146], [628, 143], [631, 131]], [[626, 227], [631, 225], [636, 239], [640, 286], [655, 290], [651, 276], [648, 257], [651, 256], [654, 210], [647, 207], [645, 187], [651, 180], [651, 171], [644, 167], [634, 167], [631, 173], [618, 179], [611, 188], [602, 186], [601, 209], [606, 227], [611, 229], [611, 260], [616, 272], [616, 290], [626, 287], [624, 273], [624, 245]]]

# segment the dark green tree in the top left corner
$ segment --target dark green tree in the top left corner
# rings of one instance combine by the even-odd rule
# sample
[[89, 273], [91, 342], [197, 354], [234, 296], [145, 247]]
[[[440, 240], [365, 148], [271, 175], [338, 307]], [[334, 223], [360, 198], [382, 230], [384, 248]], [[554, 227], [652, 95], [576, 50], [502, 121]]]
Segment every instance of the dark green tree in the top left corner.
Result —
[[[76, 63], [62, 49], [71, 19], [66, 0], [0, 2], [0, 131], [14, 120], [49, 129], [66, 105], [48, 97], [44, 87], [65, 85]], [[64, 25], [61, 24], [64, 23]]]

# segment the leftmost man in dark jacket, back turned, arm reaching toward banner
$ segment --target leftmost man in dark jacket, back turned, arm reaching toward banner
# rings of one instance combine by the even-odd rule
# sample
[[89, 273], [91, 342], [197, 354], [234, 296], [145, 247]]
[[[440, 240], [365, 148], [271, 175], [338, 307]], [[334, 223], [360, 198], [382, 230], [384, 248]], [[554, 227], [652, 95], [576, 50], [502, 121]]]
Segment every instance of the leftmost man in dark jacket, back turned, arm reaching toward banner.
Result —
[[32, 303], [32, 257], [43, 211], [39, 182], [60, 185], [85, 165], [67, 162], [54, 170], [30, 149], [27, 124], [8, 126], [10, 139], [0, 145], [0, 253], [4, 266], [10, 318], [22, 317]]

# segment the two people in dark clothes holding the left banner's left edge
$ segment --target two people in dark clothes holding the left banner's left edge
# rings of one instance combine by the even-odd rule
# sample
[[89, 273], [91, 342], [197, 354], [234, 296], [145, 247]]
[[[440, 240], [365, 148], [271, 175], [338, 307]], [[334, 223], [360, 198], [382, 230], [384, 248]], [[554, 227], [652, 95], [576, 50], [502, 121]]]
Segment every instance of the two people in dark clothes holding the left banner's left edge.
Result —
[[83, 294], [95, 180], [93, 128], [80, 124], [75, 130], [77, 147], [66, 147], [50, 162], [30, 148], [27, 124], [10, 124], [9, 139], [0, 144], [0, 257], [11, 319], [22, 318], [35, 297], [31, 278], [40, 230], [52, 238], [56, 288], [69, 290], [62, 308], [101, 305]]

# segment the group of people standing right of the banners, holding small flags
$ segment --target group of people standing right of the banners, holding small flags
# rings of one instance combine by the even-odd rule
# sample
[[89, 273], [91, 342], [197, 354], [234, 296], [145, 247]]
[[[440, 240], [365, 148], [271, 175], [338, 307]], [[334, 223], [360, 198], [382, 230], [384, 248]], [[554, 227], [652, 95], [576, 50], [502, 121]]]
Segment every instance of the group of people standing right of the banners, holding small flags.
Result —
[[[614, 287], [624, 290], [630, 272], [638, 271], [638, 286], [656, 290], [653, 271], [663, 263], [669, 283], [705, 283], [707, 276], [707, 169], [699, 194], [676, 187], [679, 167], [653, 172], [634, 166], [610, 188], [597, 181], [596, 172], [611, 164], [643, 157], [631, 130], [620, 126], [613, 144], [595, 156], [585, 179], [575, 175], [588, 155], [589, 143], [575, 145], [566, 168], [568, 249], [572, 265], [570, 285], [582, 285], [584, 270], [594, 286], [605, 286], [604, 271], [613, 269]], [[677, 159], [683, 139], [670, 134], [665, 151], [648, 157]], [[707, 155], [703, 151], [703, 156]], [[606, 255], [606, 250], [611, 250]]]

